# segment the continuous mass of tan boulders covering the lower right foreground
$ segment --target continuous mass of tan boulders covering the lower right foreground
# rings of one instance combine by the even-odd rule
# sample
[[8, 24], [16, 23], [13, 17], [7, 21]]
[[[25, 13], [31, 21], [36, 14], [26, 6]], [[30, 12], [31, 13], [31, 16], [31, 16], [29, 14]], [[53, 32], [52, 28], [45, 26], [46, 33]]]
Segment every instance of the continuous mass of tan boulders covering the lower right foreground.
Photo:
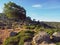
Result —
[[42, 31], [33, 37], [32, 43], [25, 42], [24, 45], [56, 45], [56, 42], [60, 42], [60, 32], [55, 32], [50, 37], [49, 34]]

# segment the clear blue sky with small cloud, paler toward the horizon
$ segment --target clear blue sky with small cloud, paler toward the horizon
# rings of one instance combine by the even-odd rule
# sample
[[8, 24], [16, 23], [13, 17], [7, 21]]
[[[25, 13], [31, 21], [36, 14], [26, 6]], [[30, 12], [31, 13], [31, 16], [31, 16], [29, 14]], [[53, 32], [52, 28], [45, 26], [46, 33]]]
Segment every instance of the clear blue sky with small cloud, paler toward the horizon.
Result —
[[60, 22], [60, 0], [0, 0], [0, 13], [9, 1], [24, 7], [32, 19]]

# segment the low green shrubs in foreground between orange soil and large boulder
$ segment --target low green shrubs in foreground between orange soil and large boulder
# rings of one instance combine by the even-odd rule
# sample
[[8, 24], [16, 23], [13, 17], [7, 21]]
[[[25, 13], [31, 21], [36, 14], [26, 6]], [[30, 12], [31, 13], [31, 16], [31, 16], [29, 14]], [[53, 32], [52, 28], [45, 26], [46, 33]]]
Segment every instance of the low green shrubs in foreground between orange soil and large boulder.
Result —
[[7, 38], [3, 45], [23, 45], [24, 41], [32, 39], [33, 35], [34, 31], [21, 31], [17, 36]]

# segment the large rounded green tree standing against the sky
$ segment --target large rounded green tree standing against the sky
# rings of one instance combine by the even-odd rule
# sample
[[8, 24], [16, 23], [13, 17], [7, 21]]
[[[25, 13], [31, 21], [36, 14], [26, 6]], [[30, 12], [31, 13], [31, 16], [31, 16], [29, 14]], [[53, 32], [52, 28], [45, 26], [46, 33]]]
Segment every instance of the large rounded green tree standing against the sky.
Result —
[[7, 4], [5, 3], [3, 12], [8, 18], [12, 19], [26, 18], [26, 10], [13, 2], [9, 2]]

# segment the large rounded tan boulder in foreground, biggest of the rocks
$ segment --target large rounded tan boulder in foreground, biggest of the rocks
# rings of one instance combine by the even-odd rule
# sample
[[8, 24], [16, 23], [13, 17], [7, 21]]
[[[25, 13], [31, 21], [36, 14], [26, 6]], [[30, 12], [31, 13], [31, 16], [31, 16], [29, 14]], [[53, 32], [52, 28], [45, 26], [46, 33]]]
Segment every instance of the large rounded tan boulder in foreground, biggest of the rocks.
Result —
[[33, 42], [36, 45], [39, 45], [43, 41], [45, 41], [45, 42], [50, 41], [50, 36], [44, 31], [39, 32], [36, 36], [33, 37]]

